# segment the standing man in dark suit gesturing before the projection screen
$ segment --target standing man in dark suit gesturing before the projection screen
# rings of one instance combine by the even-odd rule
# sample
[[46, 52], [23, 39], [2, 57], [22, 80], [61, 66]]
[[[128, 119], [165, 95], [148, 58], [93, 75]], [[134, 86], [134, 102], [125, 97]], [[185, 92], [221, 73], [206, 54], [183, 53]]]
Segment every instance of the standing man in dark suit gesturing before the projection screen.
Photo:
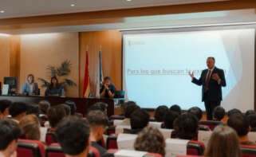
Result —
[[226, 80], [223, 69], [215, 67], [214, 57], [207, 58], [207, 67], [208, 69], [203, 70], [199, 79], [196, 79], [193, 73], [189, 73], [189, 75], [192, 78], [192, 83], [203, 85], [202, 101], [204, 101], [207, 112], [207, 120], [212, 120], [212, 112], [223, 100], [222, 86], [226, 86]]

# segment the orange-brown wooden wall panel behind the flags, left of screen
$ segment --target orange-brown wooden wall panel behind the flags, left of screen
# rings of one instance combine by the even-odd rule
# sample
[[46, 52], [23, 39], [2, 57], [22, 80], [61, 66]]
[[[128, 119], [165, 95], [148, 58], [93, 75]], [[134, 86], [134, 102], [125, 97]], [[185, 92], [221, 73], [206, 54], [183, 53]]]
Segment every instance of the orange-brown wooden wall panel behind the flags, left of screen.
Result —
[[79, 33], [80, 40], [80, 96], [85, 80], [85, 52], [89, 49], [89, 76], [91, 91], [96, 94], [98, 78], [98, 55], [101, 46], [101, 60], [104, 77], [112, 78], [117, 90], [121, 89], [122, 33], [117, 30]]

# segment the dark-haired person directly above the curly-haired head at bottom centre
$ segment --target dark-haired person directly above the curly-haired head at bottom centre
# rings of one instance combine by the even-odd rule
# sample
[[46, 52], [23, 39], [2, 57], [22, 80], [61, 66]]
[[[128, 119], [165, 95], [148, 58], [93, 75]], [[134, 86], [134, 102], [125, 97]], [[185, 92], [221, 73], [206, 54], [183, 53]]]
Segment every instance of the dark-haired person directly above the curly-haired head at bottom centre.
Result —
[[148, 126], [148, 122], [149, 122], [149, 114], [148, 112], [146, 112], [143, 109], [137, 109], [135, 112], [132, 112], [131, 115], [131, 130], [126, 130], [124, 129], [124, 133], [131, 133], [131, 134], [137, 134], [140, 131], [142, 131], [142, 129], [144, 129], [145, 127]]

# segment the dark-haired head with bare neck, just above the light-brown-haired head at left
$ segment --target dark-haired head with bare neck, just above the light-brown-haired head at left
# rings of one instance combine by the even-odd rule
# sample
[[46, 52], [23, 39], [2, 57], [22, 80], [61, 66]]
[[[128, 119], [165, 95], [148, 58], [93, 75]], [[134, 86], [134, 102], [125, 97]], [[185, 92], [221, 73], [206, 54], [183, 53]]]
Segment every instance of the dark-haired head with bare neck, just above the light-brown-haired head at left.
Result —
[[19, 121], [26, 116], [26, 104], [22, 102], [14, 102], [10, 105], [9, 113], [11, 120], [14, 120], [18, 124]]

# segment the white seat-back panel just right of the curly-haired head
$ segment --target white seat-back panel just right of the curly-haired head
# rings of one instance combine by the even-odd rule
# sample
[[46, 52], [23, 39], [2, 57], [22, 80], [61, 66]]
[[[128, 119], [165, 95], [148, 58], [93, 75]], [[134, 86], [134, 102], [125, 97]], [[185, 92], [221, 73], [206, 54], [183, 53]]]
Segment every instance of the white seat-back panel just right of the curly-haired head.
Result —
[[176, 155], [187, 155], [186, 139], [166, 139], [166, 155], [167, 157], [175, 157]]

